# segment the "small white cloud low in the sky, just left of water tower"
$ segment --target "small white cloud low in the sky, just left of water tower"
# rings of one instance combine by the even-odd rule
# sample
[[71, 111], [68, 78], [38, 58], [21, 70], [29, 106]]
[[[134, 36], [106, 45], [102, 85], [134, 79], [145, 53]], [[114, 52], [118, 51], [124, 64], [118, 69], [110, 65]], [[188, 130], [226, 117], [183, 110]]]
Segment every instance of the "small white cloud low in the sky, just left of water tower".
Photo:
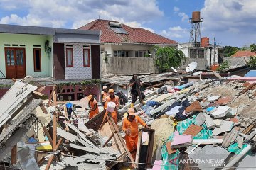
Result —
[[186, 38], [188, 37], [188, 30], [181, 28], [181, 26], [174, 26], [168, 30], [162, 30], [160, 34], [168, 38]]

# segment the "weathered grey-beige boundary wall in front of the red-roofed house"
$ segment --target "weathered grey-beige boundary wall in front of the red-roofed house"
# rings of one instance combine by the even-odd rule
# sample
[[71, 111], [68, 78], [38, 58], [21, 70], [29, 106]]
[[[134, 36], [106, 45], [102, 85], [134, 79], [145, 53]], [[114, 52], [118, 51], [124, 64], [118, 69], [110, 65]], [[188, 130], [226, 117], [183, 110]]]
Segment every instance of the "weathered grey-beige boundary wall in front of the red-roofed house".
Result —
[[107, 57], [102, 58], [102, 74], [134, 74], [156, 72], [153, 57]]

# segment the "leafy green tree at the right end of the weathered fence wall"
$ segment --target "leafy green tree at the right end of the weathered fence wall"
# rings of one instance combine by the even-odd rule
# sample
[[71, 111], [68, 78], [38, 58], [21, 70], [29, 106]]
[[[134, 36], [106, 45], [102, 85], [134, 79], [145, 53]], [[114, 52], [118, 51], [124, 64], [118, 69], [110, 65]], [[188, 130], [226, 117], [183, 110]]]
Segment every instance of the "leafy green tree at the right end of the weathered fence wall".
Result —
[[155, 46], [154, 49], [156, 50], [155, 65], [159, 72], [166, 72], [171, 67], [181, 66], [181, 62], [185, 58], [184, 53], [174, 47]]

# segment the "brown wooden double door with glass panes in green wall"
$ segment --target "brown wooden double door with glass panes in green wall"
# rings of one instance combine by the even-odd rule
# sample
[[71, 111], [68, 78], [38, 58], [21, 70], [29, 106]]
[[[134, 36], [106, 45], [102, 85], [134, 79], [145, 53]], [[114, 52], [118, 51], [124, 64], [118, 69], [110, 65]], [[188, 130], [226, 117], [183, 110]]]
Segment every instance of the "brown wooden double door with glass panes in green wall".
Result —
[[26, 76], [26, 57], [24, 48], [5, 48], [6, 78], [23, 78]]

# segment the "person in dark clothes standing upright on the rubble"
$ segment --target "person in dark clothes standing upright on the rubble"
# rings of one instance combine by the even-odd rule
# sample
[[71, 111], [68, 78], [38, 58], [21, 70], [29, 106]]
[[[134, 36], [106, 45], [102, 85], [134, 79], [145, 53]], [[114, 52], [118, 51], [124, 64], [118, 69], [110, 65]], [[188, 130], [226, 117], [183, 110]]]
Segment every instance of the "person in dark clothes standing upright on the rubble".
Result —
[[[137, 98], [139, 96], [138, 91], [137, 91], [137, 86], [142, 86], [142, 81], [140, 79], [137, 79], [137, 81], [135, 80], [135, 77], [137, 77], [136, 74], [133, 74], [132, 79], [130, 79], [129, 81], [129, 86], [131, 87], [131, 94], [132, 94], [132, 103], [131, 103], [131, 108], [134, 107], [134, 103], [135, 101], [137, 101]], [[143, 93], [142, 94], [142, 99], [145, 98], [145, 95]]]

